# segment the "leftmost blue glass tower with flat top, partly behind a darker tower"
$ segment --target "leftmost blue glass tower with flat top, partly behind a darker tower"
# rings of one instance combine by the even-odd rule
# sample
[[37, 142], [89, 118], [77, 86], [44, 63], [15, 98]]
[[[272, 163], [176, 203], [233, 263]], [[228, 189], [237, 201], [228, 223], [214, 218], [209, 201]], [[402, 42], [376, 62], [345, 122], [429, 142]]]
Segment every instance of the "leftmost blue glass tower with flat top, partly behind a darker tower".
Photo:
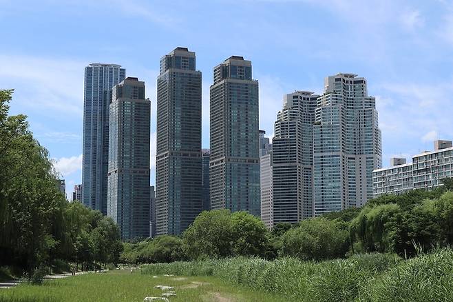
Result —
[[85, 67], [82, 200], [103, 214], [107, 214], [110, 94], [125, 74], [126, 70], [116, 64], [92, 63]]

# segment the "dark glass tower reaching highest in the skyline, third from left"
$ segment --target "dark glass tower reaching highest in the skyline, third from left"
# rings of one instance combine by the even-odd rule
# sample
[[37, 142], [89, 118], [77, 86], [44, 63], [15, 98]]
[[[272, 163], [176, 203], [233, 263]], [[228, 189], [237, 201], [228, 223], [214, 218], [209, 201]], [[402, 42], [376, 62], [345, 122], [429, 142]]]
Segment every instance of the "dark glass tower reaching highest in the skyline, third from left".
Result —
[[201, 72], [195, 52], [178, 47], [158, 77], [157, 234], [180, 234], [201, 210]]

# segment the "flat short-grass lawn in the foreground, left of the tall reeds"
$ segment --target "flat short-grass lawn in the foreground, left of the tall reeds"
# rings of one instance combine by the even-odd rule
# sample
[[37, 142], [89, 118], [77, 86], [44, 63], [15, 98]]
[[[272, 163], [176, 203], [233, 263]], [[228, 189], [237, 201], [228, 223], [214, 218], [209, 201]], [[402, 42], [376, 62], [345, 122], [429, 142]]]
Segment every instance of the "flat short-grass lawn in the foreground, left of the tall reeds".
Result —
[[288, 301], [282, 296], [233, 286], [213, 277], [153, 278], [139, 271], [131, 274], [128, 270], [114, 270], [45, 281], [43, 285], [21, 284], [16, 288], [0, 289], [0, 302], [143, 301], [145, 296], [162, 294], [161, 290], [154, 289], [154, 285], [174, 286], [177, 296], [171, 297], [171, 302]]

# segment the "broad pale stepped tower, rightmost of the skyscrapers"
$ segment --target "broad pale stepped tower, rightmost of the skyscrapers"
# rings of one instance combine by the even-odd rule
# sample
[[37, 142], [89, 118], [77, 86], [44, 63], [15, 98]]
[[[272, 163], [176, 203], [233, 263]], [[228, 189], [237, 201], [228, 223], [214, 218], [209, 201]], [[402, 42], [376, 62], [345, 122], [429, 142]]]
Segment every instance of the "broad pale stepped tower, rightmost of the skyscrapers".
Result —
[[366, 79], [327, 77], [313, 125], [315, 216], [372, 198], [372, 171], [381, 168], [381, 154], [375, 98], [368, 96]]

